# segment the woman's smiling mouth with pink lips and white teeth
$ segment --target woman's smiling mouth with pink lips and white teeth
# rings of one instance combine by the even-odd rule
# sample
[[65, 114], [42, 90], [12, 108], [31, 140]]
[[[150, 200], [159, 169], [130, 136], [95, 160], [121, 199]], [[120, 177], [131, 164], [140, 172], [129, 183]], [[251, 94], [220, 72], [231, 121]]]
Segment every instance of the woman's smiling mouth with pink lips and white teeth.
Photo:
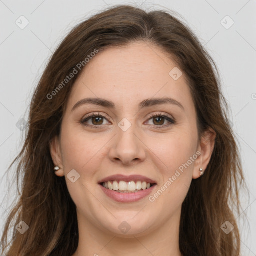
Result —
[[118, 202], [134, 202], [152, 192], [156, 182], [141, 175], [112, 175], [98, 182], [103, 192]]

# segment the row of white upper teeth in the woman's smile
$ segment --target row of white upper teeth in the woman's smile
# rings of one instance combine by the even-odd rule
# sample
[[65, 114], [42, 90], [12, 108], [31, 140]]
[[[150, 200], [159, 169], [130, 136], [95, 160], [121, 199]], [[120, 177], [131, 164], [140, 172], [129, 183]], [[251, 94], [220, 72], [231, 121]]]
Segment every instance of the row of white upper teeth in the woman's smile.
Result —
[[119, 190], [119, 191], [136, 191], [136, 190], [145, 190], [150, 187], [150, 183], [146, 181], [107, 181], [102, 184], [105, 188], [110, 190]]

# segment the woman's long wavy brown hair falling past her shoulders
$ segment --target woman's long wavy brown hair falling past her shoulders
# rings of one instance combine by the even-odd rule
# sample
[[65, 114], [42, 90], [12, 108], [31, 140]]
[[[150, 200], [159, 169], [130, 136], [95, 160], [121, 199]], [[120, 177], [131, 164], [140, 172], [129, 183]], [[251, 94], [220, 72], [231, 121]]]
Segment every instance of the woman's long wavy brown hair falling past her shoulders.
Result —
[[[118, 5], [76, 25], [52, 54], [35, 88], [25, 141], [10, 165], [17, 162], [17, 186], [18, 177], [22, 182], [19, 199], [1, 238], [6, 256], [69, 256], [77, 249], [76, 207], [65, 178], [54, 174], [49, 144], [59, 135], [67, 99], [83, 70], [78, 70], [77, 64], [95, 49], [102, 51], [141, 41], [169, 54], [185, 74], [196, 109], [199, 138], [209, 128], [216, 132], [205, 174], [192, 180], [182, 204], [180, 251], [184, 256], [239, 255], [240, 236], [234, 211], [240, 212], [238, 190], [245, 180], [216, 64], [188, 26], [173, 15], [163, 10], [146, 12]], [[74, 68], [78, 74], [56, 91]], [[53, 91], [56, 95], [52, 99], [47, 95]], [[24, 234], [14, 228], [21, 220], [29, 226]], [[229, 234], [220, 228], [227, 220], [234, 226]], [[8, 242], [12, 222], [13, 233]]]

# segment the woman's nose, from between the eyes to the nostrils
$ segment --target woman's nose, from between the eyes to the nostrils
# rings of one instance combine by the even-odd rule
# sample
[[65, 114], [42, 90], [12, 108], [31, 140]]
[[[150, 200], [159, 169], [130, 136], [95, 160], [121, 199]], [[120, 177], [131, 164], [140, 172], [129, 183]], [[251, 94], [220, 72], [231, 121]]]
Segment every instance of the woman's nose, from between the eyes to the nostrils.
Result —
[[130, 164], [133, 160], [143, 161], [145, 150], [136, 132], [136, 125], [127, 118], [123, 118], [116, 127], [116, 136], [109, 151], [111, 160], [120, 160], [123, 164]]

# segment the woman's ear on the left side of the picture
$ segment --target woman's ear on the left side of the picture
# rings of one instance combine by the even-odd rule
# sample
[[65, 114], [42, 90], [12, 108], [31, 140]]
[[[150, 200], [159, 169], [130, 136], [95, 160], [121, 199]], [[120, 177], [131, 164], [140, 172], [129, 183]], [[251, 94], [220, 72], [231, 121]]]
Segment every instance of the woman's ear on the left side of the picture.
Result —
[[50, 155], [54, 165], [60, 168], [59, 170], [55, 171], [55, 174], [59, 177], [64, 176], [62, 157], [60, 152], [60, 141], [58, 136], [55, 136], [50, 141]]

